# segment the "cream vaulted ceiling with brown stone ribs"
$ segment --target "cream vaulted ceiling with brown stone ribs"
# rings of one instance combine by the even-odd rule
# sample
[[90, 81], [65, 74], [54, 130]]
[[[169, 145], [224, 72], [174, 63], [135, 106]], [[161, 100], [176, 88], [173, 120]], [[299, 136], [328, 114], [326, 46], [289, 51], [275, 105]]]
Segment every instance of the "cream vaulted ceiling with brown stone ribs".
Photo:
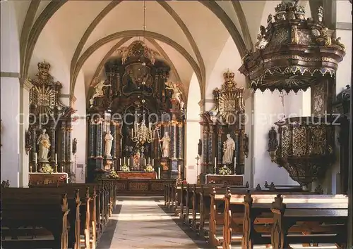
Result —
[[253, 46], [265, 2], [146, 1], [143, 32], [143, 1], [16, 1], [18, 23], [23, 23], [21, 75], [28, 77], [30, 63], [37, 63], [31, 61], [37, 41], [50, 30], [68, 65], [73, 95], [80, 70], [88, 89], [116, 49], [145, 34], [146, 44], [172, 65], [172, 79], [183, 82], [186, 93], [195, 72], [203, 97], [227, 39], [232, 37], [241, 56]]

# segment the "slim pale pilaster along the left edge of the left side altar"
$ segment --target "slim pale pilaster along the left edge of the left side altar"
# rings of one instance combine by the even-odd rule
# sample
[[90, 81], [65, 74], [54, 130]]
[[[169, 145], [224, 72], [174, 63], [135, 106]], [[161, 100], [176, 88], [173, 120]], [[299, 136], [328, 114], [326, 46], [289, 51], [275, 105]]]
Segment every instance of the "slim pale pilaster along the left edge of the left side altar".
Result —
[[[28, 187], [29, 172], [30, 172], [30, 152], [27, 154], [25, 151], [25, 132], [29, 128], [30, 114], [30, 89], [33, 87], [28, 79], [20, 79], [20, 164], [19, 167], [19, 186]], [[7, 106], [6, 106], [7, 108]], [[32, 135], [35, 142], [35, 136]], [[5, 166], [6, 167], [6, 166]], [[35, 169], [35, 167], [32, 167]]]

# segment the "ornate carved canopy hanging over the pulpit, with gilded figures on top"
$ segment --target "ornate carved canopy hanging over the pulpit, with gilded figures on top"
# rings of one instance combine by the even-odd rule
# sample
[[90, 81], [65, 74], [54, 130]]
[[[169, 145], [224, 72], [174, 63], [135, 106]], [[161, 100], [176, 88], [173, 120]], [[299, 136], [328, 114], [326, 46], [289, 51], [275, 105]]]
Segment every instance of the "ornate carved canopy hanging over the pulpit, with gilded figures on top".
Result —
[[298, 1], [282, 0], [275, 7], [275, 21], [269, 15], [267, 27], [260, 27], [256, 50], [246, 53], [239, 68], [251, 89], [297, 92], [318, 76], [335, 76], [345, 46], [323, 25], [322, 7], [317, 20], [305, 19], [305, 12]]

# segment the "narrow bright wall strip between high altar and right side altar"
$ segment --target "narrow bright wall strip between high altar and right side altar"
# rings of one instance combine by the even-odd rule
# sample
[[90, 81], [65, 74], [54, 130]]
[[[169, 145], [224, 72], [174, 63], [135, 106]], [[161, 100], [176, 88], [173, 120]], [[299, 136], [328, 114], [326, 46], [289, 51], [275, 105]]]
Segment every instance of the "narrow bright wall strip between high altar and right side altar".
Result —
[[198, 174], [201, 173], [201, 160], [196, 165], [196, 156], [198, 155], [198, 139], [201, 139], [200, 106], [201, 100], [200, 85], [198, 79], [193, 73], [189, 87], [189, 100], [186, 107], [186, 181], [189, 184], [196, 184]]

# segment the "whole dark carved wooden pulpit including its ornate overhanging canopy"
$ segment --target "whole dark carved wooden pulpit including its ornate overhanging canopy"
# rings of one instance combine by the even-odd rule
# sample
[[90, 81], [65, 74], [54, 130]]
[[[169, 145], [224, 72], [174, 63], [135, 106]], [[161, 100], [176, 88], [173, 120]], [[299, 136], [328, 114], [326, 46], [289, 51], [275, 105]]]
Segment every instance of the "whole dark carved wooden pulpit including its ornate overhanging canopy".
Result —
[[314, 20], [305, 19], [305, 9], [298, 2], [282, 0], [275, 15], [268, 15], [256, 50], [246, 52], [239, 71], [254, 90], [297, 92], [311, 87], [314, 117], [283, 118], [275, 122], [278, 140], [275, 127], [268, 134], [273, 162], [307, 186], [323, 177], [334, 160], [334, 129], [324, 115], [332, 113], [333, 77], [345, 56], [345, 45], [323, 25], [323, 7]]

